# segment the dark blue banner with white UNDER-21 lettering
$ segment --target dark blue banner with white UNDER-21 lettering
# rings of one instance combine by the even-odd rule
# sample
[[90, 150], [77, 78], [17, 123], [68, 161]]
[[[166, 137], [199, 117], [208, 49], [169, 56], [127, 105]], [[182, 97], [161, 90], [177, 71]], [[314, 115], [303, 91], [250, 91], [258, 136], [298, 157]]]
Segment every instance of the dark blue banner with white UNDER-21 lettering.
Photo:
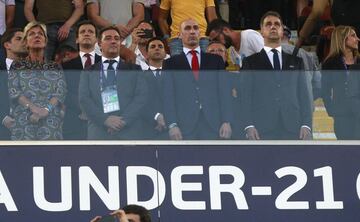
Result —
[[358, 221], [356, 145], [0, 147], [0, 221]]

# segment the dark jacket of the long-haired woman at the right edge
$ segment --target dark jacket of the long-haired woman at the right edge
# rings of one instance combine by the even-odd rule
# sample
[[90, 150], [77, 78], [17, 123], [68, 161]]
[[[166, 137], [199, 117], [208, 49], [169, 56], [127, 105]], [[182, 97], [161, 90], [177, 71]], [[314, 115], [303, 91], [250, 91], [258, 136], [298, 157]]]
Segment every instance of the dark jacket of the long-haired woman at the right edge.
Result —
[[322, 69], [321, 94], [329, 116], [353, 115], [349, 97], [349, 75], [341, 56], [327, 59]]

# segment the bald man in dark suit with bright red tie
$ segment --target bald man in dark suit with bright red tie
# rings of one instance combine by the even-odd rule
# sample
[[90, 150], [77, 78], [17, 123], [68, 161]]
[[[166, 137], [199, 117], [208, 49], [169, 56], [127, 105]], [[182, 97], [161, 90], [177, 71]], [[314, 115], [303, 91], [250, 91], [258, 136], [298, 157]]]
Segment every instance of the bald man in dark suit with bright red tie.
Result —
[[229, 139], [231, 85], [229, 76], [221, 71], [224, 62], [220, 56], [200, 52], [196, 21], [185, 20], [180, 29], [183, 52], [163, 65], [169, 136], [173, 140]]

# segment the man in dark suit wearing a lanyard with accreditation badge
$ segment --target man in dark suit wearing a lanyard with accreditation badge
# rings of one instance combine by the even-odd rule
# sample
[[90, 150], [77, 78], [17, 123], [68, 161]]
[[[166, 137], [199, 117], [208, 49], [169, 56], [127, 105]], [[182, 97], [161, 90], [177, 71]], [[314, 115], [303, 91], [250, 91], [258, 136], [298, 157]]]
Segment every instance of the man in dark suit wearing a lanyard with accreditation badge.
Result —
[[80, 106], [89, 119], [88, 139], [141, 139], [140, 115], [147, 102], [143, 73], [139, 66], [120, 61], [116, 27], [102, 29], [98, 41], [101, 61], [81, 74], [79, 85]]

